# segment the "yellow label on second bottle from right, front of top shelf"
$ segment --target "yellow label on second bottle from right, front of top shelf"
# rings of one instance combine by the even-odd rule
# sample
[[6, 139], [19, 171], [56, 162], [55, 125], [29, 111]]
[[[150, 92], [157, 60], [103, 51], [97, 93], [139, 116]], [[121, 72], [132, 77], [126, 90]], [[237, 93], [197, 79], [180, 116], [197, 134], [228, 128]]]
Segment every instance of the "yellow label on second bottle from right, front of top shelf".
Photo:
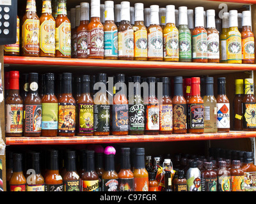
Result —
[[241, 35], [227, 38], [227, 60], [242, 60]]

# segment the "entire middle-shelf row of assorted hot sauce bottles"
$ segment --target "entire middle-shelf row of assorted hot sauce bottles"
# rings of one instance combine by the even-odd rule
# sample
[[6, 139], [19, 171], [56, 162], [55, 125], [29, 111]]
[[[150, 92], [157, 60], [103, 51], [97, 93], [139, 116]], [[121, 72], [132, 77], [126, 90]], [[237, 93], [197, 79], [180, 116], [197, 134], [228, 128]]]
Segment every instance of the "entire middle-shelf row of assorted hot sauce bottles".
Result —
[[230, 108], [225, 77], [214, 93], [213, 77], [19, 75], [4, 75], [7, 137], [228, 133], [230, 117], [234, 130], [256, 129], [252, 78], [235, 80]]

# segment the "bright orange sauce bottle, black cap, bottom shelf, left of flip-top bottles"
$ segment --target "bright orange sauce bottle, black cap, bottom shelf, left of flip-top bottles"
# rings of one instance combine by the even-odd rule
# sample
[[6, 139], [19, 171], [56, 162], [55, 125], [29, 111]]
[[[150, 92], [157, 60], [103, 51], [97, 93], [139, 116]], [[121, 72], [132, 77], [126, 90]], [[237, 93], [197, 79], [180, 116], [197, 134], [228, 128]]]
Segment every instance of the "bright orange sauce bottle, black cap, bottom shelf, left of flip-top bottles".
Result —
[[148, 191], [148, 171], [145, 168], [145, 149], [137, 148], [134, 168], [134, 191]]

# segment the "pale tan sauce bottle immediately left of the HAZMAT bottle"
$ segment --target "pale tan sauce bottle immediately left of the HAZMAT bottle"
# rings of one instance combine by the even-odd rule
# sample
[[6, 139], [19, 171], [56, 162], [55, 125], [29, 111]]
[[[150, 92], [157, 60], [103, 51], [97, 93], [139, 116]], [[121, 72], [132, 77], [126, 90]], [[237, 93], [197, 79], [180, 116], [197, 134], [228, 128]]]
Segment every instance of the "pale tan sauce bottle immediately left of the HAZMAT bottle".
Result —
[[217, 101], [214, 97], [213, 77], [205, 78], [204, 132], [217, 133]]

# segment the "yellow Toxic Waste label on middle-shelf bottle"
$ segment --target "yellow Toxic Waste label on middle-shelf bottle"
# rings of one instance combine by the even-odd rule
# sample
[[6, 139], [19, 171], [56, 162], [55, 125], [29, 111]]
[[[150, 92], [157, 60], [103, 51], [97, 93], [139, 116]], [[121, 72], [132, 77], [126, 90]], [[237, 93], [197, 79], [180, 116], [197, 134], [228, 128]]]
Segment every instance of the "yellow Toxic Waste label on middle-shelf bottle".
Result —
[[78, 104], [78, 133], [93, 133], [93, 104]]

